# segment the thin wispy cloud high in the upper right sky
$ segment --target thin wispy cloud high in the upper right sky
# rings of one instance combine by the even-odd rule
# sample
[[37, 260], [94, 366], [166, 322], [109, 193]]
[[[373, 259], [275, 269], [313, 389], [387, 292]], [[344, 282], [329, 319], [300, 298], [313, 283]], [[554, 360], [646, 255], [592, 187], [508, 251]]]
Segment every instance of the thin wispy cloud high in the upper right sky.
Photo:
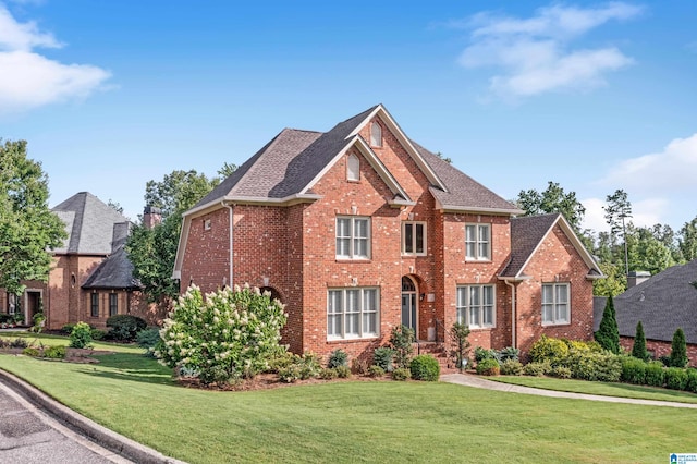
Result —
[[580, 9], [553, 5], [530, 19], [473, 16], [472, 45], [460, 56], [465, 68], [496, 66], [490, 89], [500, 96], [527, 97], [560, 89], [585, 89], [604, 84], [603, 75], [633, 60], [615, 47], [573, 49], [571, 42], [609, 21], [627, 20], [641, 12], [622, 2]]

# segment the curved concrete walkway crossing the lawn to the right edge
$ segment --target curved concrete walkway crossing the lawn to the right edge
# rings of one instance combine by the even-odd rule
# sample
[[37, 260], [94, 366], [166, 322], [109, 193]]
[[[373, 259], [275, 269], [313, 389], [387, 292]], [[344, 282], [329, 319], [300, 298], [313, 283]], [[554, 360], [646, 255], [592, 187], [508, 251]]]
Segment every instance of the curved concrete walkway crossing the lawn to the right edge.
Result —
[[510, 383], [494, 382], [470, 374], [444, 374], [440, 381], [456, 383], [466, 387], [481, 388], [494, 391], [512, 393], [536, 394], [539, 396], [567, 398], [572, 400], [604, 401], [607, 403], [644, 404], [647, 406], [686, 407], [697, 410], [697, 404], [676, 403], [674, 401], [636, 400], [632, 398], [602, 396], [599, 394], [570, 393], [565, 391], [542, 390], [531, 387], [514, 386]]

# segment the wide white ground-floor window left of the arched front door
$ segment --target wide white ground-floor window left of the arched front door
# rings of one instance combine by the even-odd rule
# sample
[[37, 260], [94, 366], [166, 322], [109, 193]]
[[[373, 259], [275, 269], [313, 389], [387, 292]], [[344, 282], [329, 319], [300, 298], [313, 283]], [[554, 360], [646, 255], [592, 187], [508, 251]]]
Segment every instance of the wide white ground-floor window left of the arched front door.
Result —
[[380, 296], [377, 288], [330, 290], [327, 297], [329, 340], [378, 337]]

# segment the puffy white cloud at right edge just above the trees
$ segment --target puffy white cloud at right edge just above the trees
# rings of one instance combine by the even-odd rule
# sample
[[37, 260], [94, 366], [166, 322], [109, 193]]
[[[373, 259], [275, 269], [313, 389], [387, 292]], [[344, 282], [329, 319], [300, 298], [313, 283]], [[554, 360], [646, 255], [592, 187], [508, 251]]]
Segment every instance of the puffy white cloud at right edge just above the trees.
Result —
[[627, 192], [694, 192], [697, 179], [697, 134], [675, 138], [661, 152], [620, 162], [602, 181]]

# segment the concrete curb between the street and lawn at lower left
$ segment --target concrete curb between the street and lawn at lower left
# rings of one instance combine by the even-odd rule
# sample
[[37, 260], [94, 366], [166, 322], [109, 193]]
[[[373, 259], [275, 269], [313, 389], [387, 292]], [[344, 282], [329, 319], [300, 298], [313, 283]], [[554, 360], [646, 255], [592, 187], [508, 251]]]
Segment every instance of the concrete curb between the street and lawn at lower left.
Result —
[[64, 406], [19, 377], [0, 369], [0, 382], [97, 444], [136, 463], [186, 464], [100, 426]]

